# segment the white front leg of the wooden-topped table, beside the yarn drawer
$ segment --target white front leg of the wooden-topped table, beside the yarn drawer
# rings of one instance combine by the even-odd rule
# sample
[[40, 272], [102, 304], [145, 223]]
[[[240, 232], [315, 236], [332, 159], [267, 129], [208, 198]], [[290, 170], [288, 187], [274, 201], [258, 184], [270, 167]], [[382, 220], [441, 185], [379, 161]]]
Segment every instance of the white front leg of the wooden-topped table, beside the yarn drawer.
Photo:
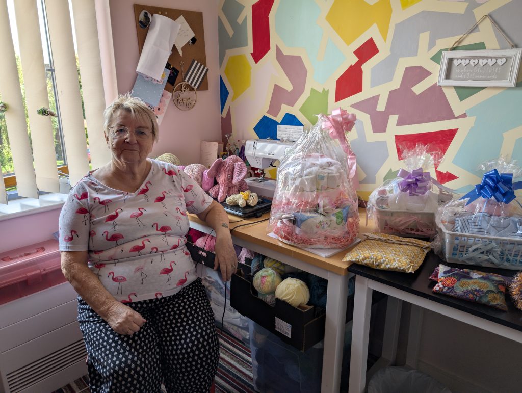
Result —
[[322, 393], [338, 393], [341, 385], [348, 277], [334, 273], [328, 275], [323, 374], [321, 378]]

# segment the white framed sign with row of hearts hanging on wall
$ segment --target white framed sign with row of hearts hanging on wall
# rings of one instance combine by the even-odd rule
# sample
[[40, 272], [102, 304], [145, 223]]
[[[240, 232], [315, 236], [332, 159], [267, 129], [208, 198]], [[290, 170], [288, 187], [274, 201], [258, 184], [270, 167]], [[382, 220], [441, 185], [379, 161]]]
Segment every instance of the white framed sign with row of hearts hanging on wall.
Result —
[[522, 49], [442, 52], [438, 86], [515, 87]]

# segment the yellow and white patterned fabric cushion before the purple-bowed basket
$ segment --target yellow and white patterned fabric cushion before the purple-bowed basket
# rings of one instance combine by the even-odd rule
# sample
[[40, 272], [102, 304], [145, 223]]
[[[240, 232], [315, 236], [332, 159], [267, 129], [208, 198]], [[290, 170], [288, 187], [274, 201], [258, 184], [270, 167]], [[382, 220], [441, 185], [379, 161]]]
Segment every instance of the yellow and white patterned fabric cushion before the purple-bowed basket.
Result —
[[422, 264], [430, 243], [410, 237], [366, 233], [366, 239], [342, 260], [382, 270], [413, 273]]

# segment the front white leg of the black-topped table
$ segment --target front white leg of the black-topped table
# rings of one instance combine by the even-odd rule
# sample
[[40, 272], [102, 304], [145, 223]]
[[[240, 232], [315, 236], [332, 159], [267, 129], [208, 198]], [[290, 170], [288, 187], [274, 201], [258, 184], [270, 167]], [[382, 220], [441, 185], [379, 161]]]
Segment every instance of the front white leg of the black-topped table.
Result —
[[362, 393], [366, 385], [370, 313], [372, 311], [371, 304], [372, 289], [368, 287], [368, 279], [357, 276], [355, 278], [355, 297], [353, 305], [349, 393]]

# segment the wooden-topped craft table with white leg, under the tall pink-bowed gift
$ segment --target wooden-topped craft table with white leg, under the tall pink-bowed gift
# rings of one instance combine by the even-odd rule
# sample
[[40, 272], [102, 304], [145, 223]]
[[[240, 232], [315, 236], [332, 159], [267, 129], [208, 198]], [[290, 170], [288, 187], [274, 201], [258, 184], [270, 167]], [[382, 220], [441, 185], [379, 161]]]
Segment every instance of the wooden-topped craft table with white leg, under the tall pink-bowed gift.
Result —
[[[347, 250], [329, 258], [323, 258], [298, 247], [280, 242], [267, 235], [268, 221], [266, 219], [269, 217], [269, 213], [265, 213], [260, 218], [247, 219], [229, 215], [232, 241], [234, 244], [251, 249], [256, 253], [274, 258], [328, 280], [321, 391], [323, 393], [338, 393], [341, 382], [348, 280], [351, 276], [347, 270], [350, 263], [341, 260]], [[211, 229], [205, 222], [199, 220], [194, 215], [189, 215], [189, 218], [191, 220], [191, 228], [210, 233]], [[242, 224], [249, 225], [239, 227]]]

